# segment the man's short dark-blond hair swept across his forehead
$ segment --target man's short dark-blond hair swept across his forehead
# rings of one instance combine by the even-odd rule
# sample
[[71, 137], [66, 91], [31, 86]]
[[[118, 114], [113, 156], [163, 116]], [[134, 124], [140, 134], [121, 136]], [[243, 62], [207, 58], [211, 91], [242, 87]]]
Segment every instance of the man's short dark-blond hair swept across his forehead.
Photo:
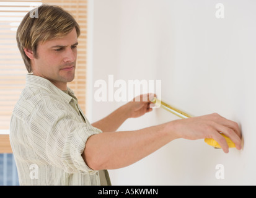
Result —
[[[37, 11], [38, 17], [31, 17], [30, 14], [35, 11]], [[27, 71], [32, 72], [32, 67], [24, 48], [32, 50], [34, 57], [37, 58], [37, 45], [40, 41], [64, 37], [73, 28], [76, 28], [77, 37], [79, 37], [80, 28], [76, 20], [61, 7], [43, 4], [28, 12], [16, 33], [17, 45]]]

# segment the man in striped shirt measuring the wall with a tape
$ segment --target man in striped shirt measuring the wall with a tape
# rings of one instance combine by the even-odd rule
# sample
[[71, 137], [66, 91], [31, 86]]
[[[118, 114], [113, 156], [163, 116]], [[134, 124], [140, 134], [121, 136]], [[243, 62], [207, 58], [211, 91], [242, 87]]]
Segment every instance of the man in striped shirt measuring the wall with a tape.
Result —
[[106, 170], [131, 165], [178, 138], [213, 138], [227, 153], [223, 132], [241, 149], [237, 123], [216, 113], [115, 132], [126, 119], [152, 111], [143, 95], [90, 124], [67, 87], [74, 79], [79, 34], [70, 14], [45, 5], [38, 7], [38, 18], [25, 15], [17, 30], [30, 73], [10, 128], [21, 185], [110, 185]]

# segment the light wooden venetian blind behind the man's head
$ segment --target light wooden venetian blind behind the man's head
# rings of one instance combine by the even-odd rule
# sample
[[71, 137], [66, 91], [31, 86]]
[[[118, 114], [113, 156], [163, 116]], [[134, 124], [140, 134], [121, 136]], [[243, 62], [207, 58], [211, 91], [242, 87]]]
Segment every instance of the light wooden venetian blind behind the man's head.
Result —
[[12, 110], [25, 87], [27, 70], [17, 48], [17, 27], [27, 12], [44, 3], [63, 7], [81, 27], [76, 77], [68, 86], [74, 90], [82, 110], [86, 111], [87, 1], [0, 1], [0, 134], [9, 132]]

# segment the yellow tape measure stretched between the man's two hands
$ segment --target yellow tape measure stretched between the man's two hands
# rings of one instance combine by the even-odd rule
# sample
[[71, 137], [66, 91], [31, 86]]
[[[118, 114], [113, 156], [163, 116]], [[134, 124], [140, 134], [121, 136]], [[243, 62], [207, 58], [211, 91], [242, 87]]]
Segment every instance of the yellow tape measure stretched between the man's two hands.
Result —
[[[156, 105], [160, 105], [162, 108], [164, 108], [165, 110], [169, 111], [170, 113], [175, 114], [176, 116], [179, 116], [180, 118], [184, 119], [184, 118], [192, 118], [193, 116], [191, 116], [190, 114], [184, 113], [183, 111], [178, 110], [177, 108], [174, 108], [173, 106], [167, 105], [167, 103], [164, 103], [161, 100], [158, 100], [156, 97], [154, 97], [151, 100], [152, 103], [155, 103]], [[224, 134], [221, 134], [221, 136], [223, 136], [226, 141], [227, 144], [229, 145], [229, 148], [234, 148], [236, 147], [236, 145], [234, 144], [234, 142], [232, 142], [231, 139], [229, 139], [229, 137], [225, 136]], [[221, 149], [221, 146], [219, 145], [218, 142], [216, 142], [216, 140], [214, 139], [205, 139], [205, 142], [208, 145], [213, 146], [216, 149]]]

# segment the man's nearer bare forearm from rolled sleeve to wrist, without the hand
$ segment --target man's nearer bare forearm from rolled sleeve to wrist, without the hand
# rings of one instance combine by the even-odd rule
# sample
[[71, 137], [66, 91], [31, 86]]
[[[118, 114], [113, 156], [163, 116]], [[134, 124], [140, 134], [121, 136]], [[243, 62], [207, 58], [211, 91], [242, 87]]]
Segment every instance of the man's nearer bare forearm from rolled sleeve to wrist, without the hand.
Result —
[[107, 132], [89, 137], [82, 157], [94, 170], [131, 165], [176, 139], [172, 123], [138, 131]]

